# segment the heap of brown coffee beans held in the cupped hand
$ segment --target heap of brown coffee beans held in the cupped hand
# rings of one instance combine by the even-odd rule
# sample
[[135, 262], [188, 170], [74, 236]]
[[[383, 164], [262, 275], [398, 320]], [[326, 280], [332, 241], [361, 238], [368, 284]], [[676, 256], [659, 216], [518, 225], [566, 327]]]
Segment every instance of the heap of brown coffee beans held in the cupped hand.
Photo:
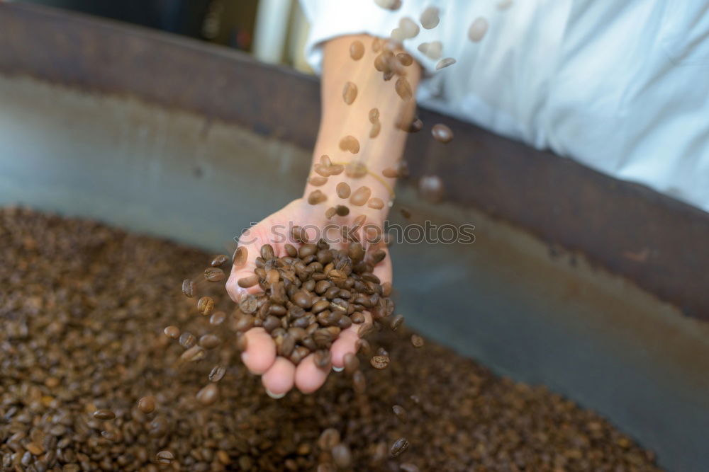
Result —
[[[335, 209], [340, 216], [350, 212], [344, 205]], [[384, 251], [365, 254], [357, 241], [338, 251], [322, 239], [286, 250], [291, 255], [278, 258], [272, 246], [262, 246], [254, 273], [263, 292], [241, 301], [237, 330], [261, 326], [274, 338], [278, 355], [298, 364], [320, 352], [320, 364], [329, 368], [325, 353], [341, 330], [362, 322], [364, 311], [372, 313], [375, 323], [389, 324], [394, 304], [372, 273]]]

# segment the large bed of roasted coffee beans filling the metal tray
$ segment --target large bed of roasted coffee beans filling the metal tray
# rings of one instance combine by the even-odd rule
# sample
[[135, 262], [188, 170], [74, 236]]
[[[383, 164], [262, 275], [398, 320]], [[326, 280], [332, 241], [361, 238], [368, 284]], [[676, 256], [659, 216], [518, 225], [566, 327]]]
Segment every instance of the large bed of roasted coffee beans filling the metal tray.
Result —
[[[211, 323], [233, 302], [190, 272], [211, 260], [192, 248], [13, 208], [0, 260], [2, 470], [658, 470], [595, 413], [403, 327], [316, 393], [269, 398]], [[188, 272], [209, 323], [177, 288]], [[182, 362], [185, 333], [223, 341]]]

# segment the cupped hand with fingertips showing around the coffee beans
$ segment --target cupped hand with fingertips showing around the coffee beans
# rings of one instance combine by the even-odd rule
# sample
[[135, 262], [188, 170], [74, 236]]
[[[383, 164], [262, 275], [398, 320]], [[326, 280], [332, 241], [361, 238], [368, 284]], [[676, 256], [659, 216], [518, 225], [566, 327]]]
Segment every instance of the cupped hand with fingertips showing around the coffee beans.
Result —
[[[342, 243], [341, 236], [337, 238], [340, 231], [335, 229], [334, 225], [347, 224], [351, 227], [354, 219], [364, 214], [367, 217], [366, 224], [378, 224], [381, 227], [381, 221], [378, 221], [381, 217], [378, 212], [373, 212], [366, 207], [352, 207], [352, 211], [347, 217], [335, 216], [332, 219], [325, 217], [325, 209], [327, 208], [326, 204], [309, 205], [303, 199], [294, 200], [245, 231], [239, 240], [239, 247], [245, 248], [247, 251], [245, 263], [240, 266], [235, 264], [232, 267], [226, 283], [226, 289], [231, 299], [240, 303], [248, 294], [257, 294], [262, 291], [258, 284], [249, 288], [242, 288], [238, 284], [238, 280], [241, 278], [254, 275], [256, 258], [260, 255], [261, 246], [270, 244], [276, 257], [287, 255], [286, 243], [290, 243], [296, 248], [301, 246], [291, 237], [290, 229], [293, 226], [301, 226], [305, 229], [308, 241], [315, 243], [322, 236], [323, 229], [329, 225], [330, 231], [327, 232], [329, 238], [326, 240], [331, 242], [330, 247], [335, 249], [344, 248], [346, 243]], [[358, 233], [362, 241], [364, 241], [363, 234], [363, 230]], [[338, 241], [336, 242], [335, 239]], [[374, 275], [379, 277], [382, 283], [391, 282], [389, 252], [383, 244], [378, 248], [386, 251], [387, 257], [374, 267]], [[372, 321], [369, 312], [365, 311], [363, 314], [367, 321]], [[330, 348], [333, 369], [341, 370], [345, 355], [356, 352], [356, 344], [359, 339], [358, 329], [359, 324], [352, 324], [350, 328], [342, 330], [333, 343]], [[252, 374], [262, 376], [262, 383], [269, 396], [280, 398], [294, 386], [303, 393], [311, 393], [320, 388], [327, 379], [330, 369], [317, 367], [314, 361], [315, 355], [312, 353], [301, 360], [297, 367], [289, 359], [277, 356], [276, 344], [264, 328], [251, 328], [245, 333], [245, 337], [247, 347], [242, 352], [242, 361]]]

